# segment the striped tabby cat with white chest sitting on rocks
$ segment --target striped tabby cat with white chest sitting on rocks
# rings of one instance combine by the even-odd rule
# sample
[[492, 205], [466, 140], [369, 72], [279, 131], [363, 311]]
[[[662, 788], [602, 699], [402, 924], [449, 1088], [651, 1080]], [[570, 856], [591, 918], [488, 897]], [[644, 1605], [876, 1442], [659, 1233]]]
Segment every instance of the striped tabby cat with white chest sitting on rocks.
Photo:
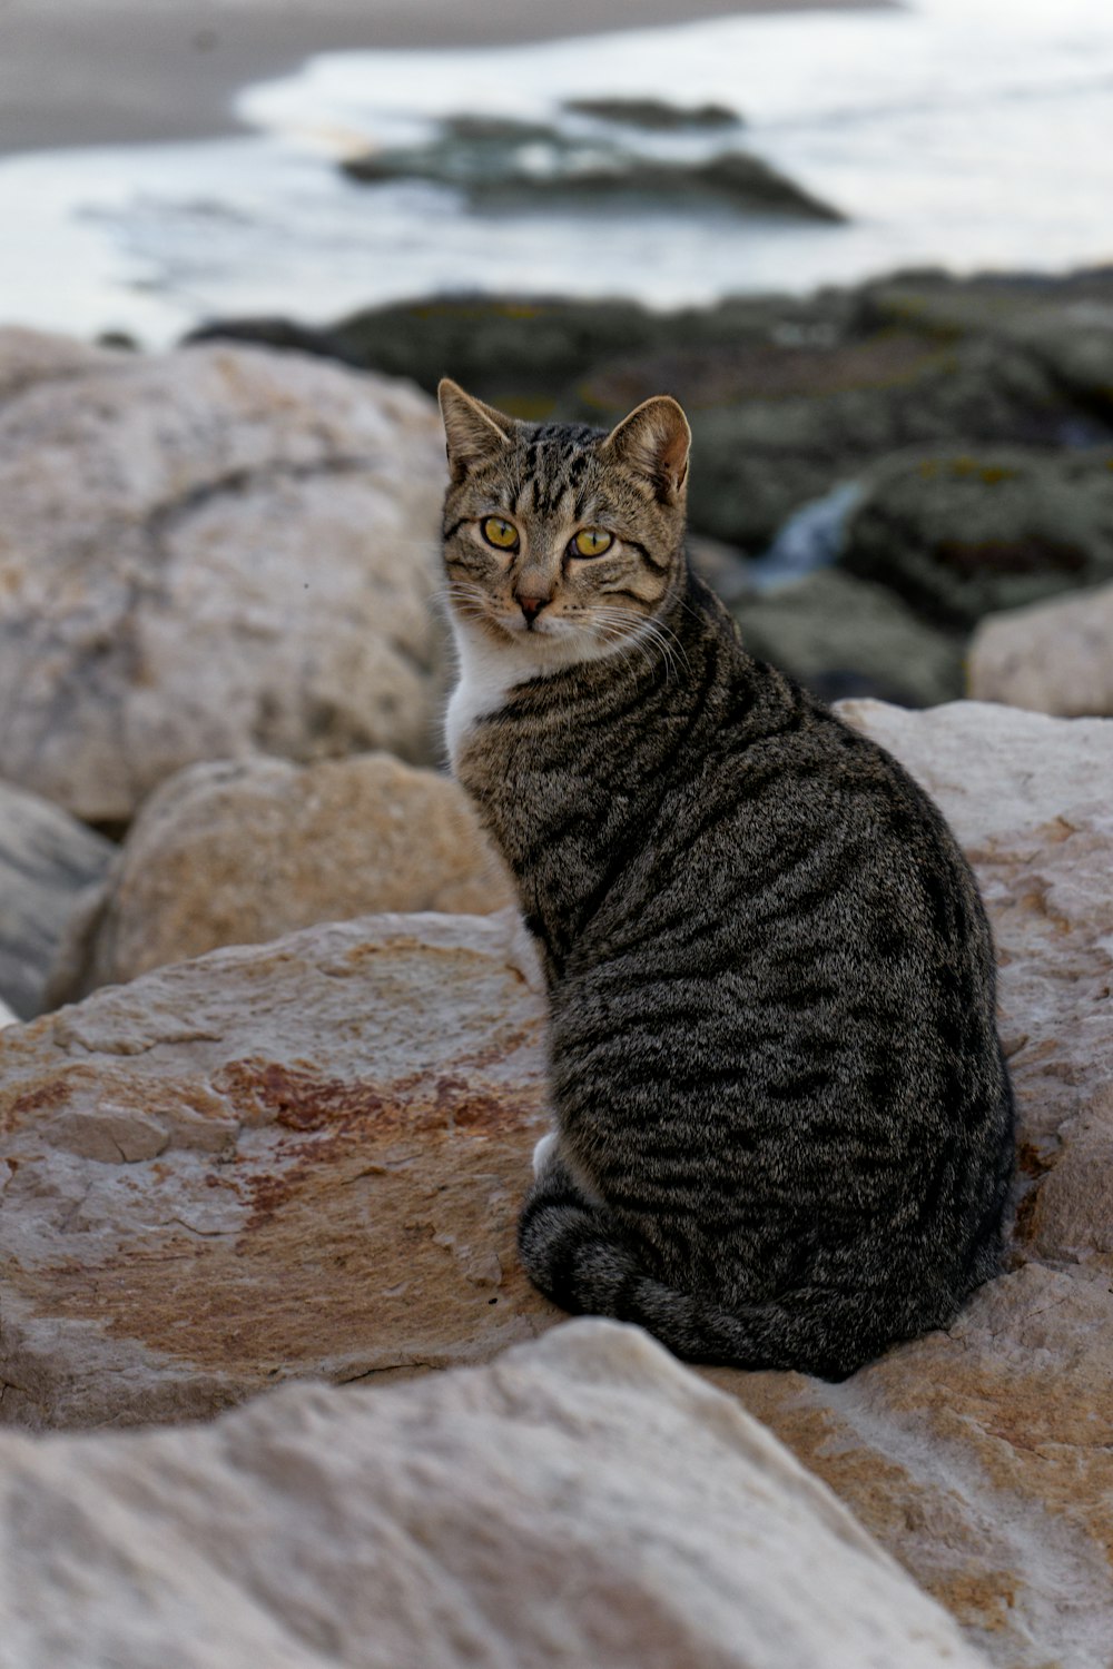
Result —
[[439, 392], [447, 749], [551, 1011], [524, 1267], [676, 1355], [844, 1379], [1000, 1263], [1013, 1097], [973, 875], [691, 571], [676, 401], [607, 434]]

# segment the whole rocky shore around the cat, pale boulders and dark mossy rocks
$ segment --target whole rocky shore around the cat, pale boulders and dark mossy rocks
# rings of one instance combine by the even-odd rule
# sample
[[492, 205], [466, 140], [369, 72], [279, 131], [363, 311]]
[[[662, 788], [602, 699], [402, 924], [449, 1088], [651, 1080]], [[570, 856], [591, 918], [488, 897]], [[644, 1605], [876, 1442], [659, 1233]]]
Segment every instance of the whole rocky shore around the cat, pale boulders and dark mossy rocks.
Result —
[[[439, 769], [442, 372], [682, 397], [694, 561], [978, 873], [1008, 1267], [844, 1385], [517, 1267], [544, 1003]], [[0, 504], [12, 1662], [1105, 1669], [1113, 277], [5, 330]]]

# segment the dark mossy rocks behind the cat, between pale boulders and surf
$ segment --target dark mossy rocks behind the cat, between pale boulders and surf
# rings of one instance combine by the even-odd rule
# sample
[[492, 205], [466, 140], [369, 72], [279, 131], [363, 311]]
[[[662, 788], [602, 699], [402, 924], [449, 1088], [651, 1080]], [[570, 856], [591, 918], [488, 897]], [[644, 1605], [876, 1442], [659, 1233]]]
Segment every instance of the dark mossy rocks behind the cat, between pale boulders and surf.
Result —
[[[1110, 270], [904, 274], [677, 314], [429, 299], [327, 330], [239, 320], [199, 335], [429, 392], [449, 374], [531, 419], [604, 426], [674, 394], [694, 434], [692, 529], [738, 554], [743, 633], [753, 621], [754, 649], [823, 696], [956, 698], [971, 653], [993, 696], [985, 636], [971, 651], [980, 621], [1113, 584]], [[776, 579], [799, 587], [766, 596]], [[1108, 713], [1096, 678], [1085, 711]], [[1083, 711], [1043, 688], [1048, 711]]]

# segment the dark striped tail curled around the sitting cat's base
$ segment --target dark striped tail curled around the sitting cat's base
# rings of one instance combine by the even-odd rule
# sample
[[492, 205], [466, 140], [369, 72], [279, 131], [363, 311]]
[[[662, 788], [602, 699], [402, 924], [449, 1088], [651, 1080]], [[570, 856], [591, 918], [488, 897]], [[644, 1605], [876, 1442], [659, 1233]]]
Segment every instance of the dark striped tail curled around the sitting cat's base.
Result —
[[801, 1293], [791, 1307], [726, 1310], [667, 1287], [646, 1273], [606, 1207], [591, 1205], [559, 1163], [529, 1190], [517, 1245], [529, 1278], [561, 1308], [636, 1322], [691, 1362], [798, 1369], [841, 1380], [903, 1334], [899, 1324], [878, 1332], [876, 1310], [869, 1315], [863, 1295], [823, 1293], [809, 1302]]

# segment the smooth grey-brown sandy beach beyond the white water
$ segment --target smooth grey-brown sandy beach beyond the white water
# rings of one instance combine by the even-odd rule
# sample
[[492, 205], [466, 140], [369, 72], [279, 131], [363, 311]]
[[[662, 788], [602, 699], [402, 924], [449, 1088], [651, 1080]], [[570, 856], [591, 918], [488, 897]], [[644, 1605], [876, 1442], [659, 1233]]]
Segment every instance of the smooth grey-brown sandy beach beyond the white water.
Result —
[[0, 154], [225, 134], [237, 127], [237, 88], [290, 70], [317, 52], [481, 47], [844, 3], [0, 0]]

